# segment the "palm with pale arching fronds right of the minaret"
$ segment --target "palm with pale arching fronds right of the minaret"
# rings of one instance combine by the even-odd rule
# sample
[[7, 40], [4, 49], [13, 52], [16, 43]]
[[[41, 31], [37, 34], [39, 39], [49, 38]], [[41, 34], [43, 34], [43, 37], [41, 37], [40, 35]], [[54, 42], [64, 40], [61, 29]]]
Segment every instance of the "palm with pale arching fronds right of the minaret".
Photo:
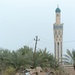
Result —
[[65, 63], [73, 65], [75, 70], [75, 50], [72, 50], [72, 52], [70, 52], [70, 50], [67, 50], [67, 54], [64, 56]]

